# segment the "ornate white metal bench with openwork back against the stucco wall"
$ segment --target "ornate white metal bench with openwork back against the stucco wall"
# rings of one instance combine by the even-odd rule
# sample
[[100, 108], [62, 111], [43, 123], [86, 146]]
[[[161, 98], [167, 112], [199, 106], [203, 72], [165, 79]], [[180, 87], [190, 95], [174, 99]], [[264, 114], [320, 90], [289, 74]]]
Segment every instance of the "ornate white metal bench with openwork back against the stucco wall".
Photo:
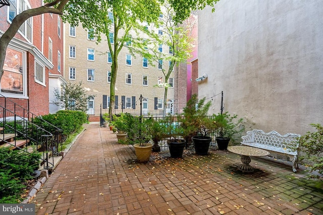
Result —
[[295, 140], [300, 136], [300, 134], [295, 133], [281, 135], [274, 130], [269, 133], [265, 133], [262, 130], [254, 129], [247, 131], [247, 135], [241, 137], [241, 145], [287, 155], [293, 163], [293, 172], [296, 172], [296, 166], [298, 168], [298, 152], [288, 149], [287, 146], [294, 145], [297, 147], [298, 144]]

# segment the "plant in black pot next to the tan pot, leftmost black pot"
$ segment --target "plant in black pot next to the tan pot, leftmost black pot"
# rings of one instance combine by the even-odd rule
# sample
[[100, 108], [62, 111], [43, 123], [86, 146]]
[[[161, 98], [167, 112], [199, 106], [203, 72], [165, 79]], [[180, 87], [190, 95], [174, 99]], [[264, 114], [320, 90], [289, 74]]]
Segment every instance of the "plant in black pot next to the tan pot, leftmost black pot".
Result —
[[168, 137], [168, 146], [170, 149], [171, 158], [182, 158], [183, 151], [186, 146], [186, 136], [184, 127], [181, 126], [182, 116], [169, 115], [165, 118], [166, 137]]

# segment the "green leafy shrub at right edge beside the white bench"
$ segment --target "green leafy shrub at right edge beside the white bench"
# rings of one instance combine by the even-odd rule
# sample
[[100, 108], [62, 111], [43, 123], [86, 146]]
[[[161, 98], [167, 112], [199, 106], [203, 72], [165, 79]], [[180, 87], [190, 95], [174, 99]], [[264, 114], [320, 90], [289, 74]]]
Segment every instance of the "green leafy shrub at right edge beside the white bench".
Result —
[[[316, 129], [313, 132], [306, 132], [297, 139], [298, 151], [301, 153], [300, 160], [306, 159], [311, 171], [323, 174], [323, 126], [320, 124], [310, 124]], [[293, 148], [293, 147], [290, 147]], [[318, 178], [317, 175], [310, 175], [311, 178]]]

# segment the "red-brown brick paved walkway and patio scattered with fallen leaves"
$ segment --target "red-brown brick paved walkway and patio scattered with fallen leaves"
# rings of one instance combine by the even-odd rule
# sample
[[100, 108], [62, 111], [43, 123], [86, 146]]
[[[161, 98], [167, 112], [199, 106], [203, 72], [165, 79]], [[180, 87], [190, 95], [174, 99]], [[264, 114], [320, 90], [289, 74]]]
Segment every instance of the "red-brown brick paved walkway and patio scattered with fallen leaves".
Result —
[[237, 170], [236, 154], [185, 151], [183, 159], [154, 153], [135, 163], [132, 146], [109, 128], [87, 124], [31, 201], [36, 214], [323, 214], [323, 191], [291, 164], [252, 158]]

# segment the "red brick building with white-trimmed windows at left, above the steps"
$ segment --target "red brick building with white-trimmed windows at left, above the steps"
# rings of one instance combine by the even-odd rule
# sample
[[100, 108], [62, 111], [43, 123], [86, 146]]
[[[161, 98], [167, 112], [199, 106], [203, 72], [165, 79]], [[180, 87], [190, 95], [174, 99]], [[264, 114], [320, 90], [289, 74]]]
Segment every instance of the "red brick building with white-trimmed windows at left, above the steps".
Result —
[[[0, 8], [0, 36], [19, 12], [43, 4], [38, 0], [8, 2], [10, 6]], [[29, 18], [7, 48], [1, 94], [36, 115], [48, 114], [53, 100], [50, 89], [64, 82], [63, 35], [58, 15]]]

